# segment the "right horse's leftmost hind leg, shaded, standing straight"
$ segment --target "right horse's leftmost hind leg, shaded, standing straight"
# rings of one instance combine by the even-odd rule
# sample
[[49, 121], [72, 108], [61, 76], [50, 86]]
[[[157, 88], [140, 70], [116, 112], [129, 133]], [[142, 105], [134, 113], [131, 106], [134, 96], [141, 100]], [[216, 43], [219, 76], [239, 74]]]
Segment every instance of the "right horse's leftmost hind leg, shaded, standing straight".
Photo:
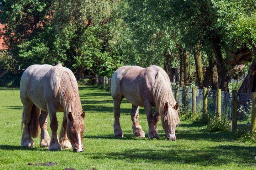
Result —
[[114, 100], [114, 135], [116, 137], [123, 137], [123, 132], [120, 126], [119, 118], [120, 118], [120, 104], [123, 100], [123, 96], [115, 96]]

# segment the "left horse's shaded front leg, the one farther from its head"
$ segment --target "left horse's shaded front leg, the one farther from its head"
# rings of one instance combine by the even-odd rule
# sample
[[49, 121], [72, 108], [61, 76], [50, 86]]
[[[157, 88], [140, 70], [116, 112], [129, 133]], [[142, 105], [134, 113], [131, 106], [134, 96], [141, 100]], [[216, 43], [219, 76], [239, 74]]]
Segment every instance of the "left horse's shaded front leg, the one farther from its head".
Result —
[[50, 140], [49, 151], [60, 151], [61, 145], [57, 136], [58, 120], [56, 116], [56, 108], [54, 104], [48, 104], [47, 109], [50, 115], [50, 128], [52, 129], [52, 138]]

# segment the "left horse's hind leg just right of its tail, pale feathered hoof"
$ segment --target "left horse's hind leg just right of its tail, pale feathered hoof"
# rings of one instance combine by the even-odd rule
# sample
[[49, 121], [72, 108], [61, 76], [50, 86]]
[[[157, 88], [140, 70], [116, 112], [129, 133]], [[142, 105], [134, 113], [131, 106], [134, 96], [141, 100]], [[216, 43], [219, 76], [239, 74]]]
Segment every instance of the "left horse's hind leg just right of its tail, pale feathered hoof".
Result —
[[41, 128], [41, 141], [40, 141], [40, 147], [49, 147], [50, 145], [50, 136], [47, 131], [47, 117], [48, 112], [41, 111], [41, 115], [39, 117], [39, 124]]

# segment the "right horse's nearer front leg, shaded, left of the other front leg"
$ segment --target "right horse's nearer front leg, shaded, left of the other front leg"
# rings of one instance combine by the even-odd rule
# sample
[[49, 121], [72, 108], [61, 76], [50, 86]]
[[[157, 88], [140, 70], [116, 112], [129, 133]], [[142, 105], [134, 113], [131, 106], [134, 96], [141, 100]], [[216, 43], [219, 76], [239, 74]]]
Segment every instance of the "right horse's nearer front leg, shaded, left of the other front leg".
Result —
[[150, 139], [153, 139], [153, 138], [159, 139], [158, 131], [155, 129], [155, 126], [154, 126], [154, 117], [152, 114], [152, 104], [150, 103], [150, 101], [148, 101], [148, 100], [144, 101], [144, 108], [145, 108], [148, 125], [149, 125], [148, 136]]

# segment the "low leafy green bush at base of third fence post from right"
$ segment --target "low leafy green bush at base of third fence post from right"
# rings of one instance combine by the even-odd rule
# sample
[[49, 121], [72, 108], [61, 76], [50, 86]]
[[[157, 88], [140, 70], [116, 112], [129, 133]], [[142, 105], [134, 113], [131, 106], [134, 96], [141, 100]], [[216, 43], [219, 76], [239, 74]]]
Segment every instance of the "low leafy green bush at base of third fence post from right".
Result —
[[225, 115], [220, 118], [210, 117], [206, 130], [209, 132], [228, 132], [230, 131], [230, 122]]

